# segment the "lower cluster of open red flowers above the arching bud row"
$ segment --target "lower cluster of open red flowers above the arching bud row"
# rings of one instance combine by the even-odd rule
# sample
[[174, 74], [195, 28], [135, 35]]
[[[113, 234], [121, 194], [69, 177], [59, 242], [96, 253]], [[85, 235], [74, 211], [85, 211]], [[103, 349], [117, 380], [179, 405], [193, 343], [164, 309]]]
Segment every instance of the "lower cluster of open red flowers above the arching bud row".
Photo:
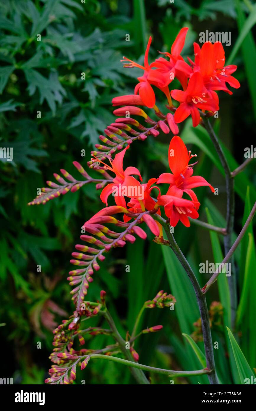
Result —
[[[128, 148], [129, 146], [127, 146]], [[125, 192], [128, 193], [125, 196], [130, 197], [128, 203], [125, 201], [124, 196], [115, 195], [115, 203], [121, 205], [127, 209], [127, 213], [124, 215], [124, 221], [127, 222], [131, 219], [130, 213], [135, 213], [136, 215], [145, 211], [154, 211], [160, 214], [159, 207], [164, 206], [166, 217], [170, 219], [170, 224], [175, 227], [180, 221], [185, 226], [189, 227], [189, 218], [198, 218], [198, 208], [200, 203], [196, 197], [196, 194], [192, 190], [196, 187], [209, 186], [211, 191], [214, 192], [214, 188], [208, 183], [203, 177], [193, 175], [193, 166], [196, 164], [189, 164], [191, 158], [196, 155], [191, 155], [191, 152], [187, 150], [185, 144], [179, 136], [174, 136], [171, 139], [169, 150], [168, 150], [168, 162], [172, 173], [163, 173], [158, 178], [150, 178], [150, 180], [141, 184], [138, 180], [132, 177], [130, 174], [139, 175], [141, 179], [140, 172], [134, 167], [127, 167], [123, 171], [123, 158], [127, 150], [125, 148], [122, 152], [118, 153], [113, 160], [110, 160], [111, 167], [104, 164], [107, 170], [115, 173], [114, 182], [118, 182], [121, 188], [126, 188]], [[93, 159], [98, 161], [98, 159]], [[153, 184], [167, 183], [169, 185], [166, 194], [161, 194], [159, 186], [154, 186]], [[115, 184], [108, 184], [101, 192], [101, 200], [107, 205], [107, 199], [110, 194], [113, 194], [113, 187]], [[138, 187], [141, 189], [138, 190]], [[132, 189], [131, 189], [132, 188]], [[137, 190], [136, 190], [137, 188]], [[157, 189], [158, 195], [157, 199], [151, 196], [152, 189]], [[139, 192], [141, 194], [129, 196], [129, 192]], [[187, 194], [190, 199], [182, 198], [184, 194]], [[146, 217], [148, 221], [152, 217]], [[150, 229], [157, 236], [157, 226], [150, 221]], [[161, 234], [161, 227], [159, 228]]]

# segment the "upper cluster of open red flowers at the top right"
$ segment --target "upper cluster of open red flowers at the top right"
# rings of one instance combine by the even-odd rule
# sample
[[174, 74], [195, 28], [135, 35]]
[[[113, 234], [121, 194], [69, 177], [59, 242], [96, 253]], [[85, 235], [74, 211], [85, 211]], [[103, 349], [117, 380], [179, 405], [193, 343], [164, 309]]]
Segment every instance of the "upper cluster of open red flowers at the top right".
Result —
[[[191, 115], [193, 126], [200, 122], [198, 109], [208, 111], [212, 115], [219, 110], [219, 98], [216, 90], [223, 90], [229, 94], [227, 84], [233, 88], [239, 88], [240, 83], [231, 74], [235, 72], [236, 66], [225, 64], [225, 52], [222, 44], [206, 42], [200, 48], [194, 43], [195, 61], [188, 58], [190, 65], [184, 61], [180, 53], [185, 44], [188, 28], [182, 28], [178, 33], [172, 47], [171, 53], [165, 52], [166, 60], [163, 57], [156, 59], [151, 64], [148, 63], [148, 53], [152, 38], [149, 38], [145, 51], [144, 66], [124, 57], [125, 67], [138, 67], [144, 71], [143, 76], [138, 77], [139, 83], [134, 89], [134, 96], [122, 96], [113, 100], [113, 105], [144, 105], [149, 108], [155, 107], [155, 92], [152, 86], [157, 87], [166, 95], [169, 108], [173, 108], [173, 99], [180, 102], [180, 106], [175, 111], [174, 120], [180, 123]], [[183, 90], [169, 90], [169, 85], [173, 79], [178, 79]], [[136, 99], [136, 95], [140, 99]]]

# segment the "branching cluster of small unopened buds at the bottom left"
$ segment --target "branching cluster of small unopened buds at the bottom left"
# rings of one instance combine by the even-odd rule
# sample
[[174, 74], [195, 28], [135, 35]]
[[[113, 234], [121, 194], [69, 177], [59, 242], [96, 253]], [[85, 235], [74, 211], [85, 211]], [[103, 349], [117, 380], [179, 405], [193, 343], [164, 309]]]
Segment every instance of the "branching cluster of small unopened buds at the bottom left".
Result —
[[[144, 303], [143, 309], [168, 307], [170, 302], [174, 304], [175, 301], [175, 298], [171, 294], [167, 295], [164, 291], [159, 291], [153, 300]], [[50, 377], [45, 380], [46, 383], [53, 385], [72, 384], [76, 379], [76, 367], [80, 366], [81, 370], [83, 370], [87, 366], [90, 358], [97, 358], [97, 354], [104, 356], [123, 354], [127, 359], [138, 362], [139, 355], [134, 349], [134, 341], [143, 334], [157, 332], [163, 328], [161, 325], [148, 327], [132, 337], [129, 336], [129, 332], [127, 332], [126, 339], [128, 339], [130, 344], [128, 351], [126, 349], [127, 342], [121, 337], [118, 337], [113, 328], [113, 319], [106, 308], [106, 292], [103, 290], [100, 292], [99, 301], [87, 301], [84, 302], [83, 305], [84, 307], [79, 314], [74, 312], [68, 320], [63, 320], [62, 324], [53, 330], [53, 346], [55, 348], [49, 357], [53, 365], [49, 369]], [[101, 316], [106, 319], [110, 328], [102, 328], [98, 326], [83, 328], [82, 321], [94, 318], [98, 314], [101, 314]], [[134, 332], [135, 331], [136, 326], [134, 328]], [[99, 334], [112, 337], [115, 340], [114, 344], [107, 345], [101, 349], [81, 348], [82, 346], [85, 346], [88, 339], [87, 338], [85, 341], [84, 337], [94, 337]], [[74, 346], [76, 346], [76, 349], [74, 349]]]

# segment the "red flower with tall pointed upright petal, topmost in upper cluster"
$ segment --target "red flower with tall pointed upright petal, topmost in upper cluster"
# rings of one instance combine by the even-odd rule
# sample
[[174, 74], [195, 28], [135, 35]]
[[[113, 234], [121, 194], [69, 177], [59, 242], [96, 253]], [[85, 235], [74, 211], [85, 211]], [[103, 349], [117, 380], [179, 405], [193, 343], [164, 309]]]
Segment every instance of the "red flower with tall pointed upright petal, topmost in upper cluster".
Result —
[[171, 46], [171, 53], [165, 52], [161, 53], [169, 57], [169, 61], [164, 58], [158, 58], [150, 67], [157, 67], [162, 74], [170, 76], [173, 71], [175, 77], [180, 81], [183, 90], [187, 88], [187, 79], [192, 74], [191, 67], [183, 60], [180, 53], [185, 44], [185, 39], [187, 35], [188, 28], [184, 27], [178, 33], [173, 45]]

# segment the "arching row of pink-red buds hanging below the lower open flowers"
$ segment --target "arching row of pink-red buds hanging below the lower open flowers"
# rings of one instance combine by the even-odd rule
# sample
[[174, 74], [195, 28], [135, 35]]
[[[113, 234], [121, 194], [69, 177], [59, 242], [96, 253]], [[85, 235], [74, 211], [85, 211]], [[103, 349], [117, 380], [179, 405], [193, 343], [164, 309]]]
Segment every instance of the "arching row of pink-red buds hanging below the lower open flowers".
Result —
[[[122, 222], [113, 217], [113, 214], [117, 213], [123, 213], [128, 217], [134, 218], [134, 220], [129, 223]], [[133, 243], [136, 240], [133, 234], [145, 239], [145, 231], [137, 226], [137, 224], [142, 222], [145, 222], [155, 235], [159, 235], [158, 226], [150, 216], [150, 212], [132, 213], [126, 208], [116, 205], [100, 210], [90, 220], [85, 222], [85, 232], [92, 235], [85, 234], [80, 237], [88, 245], [77, 244], [75, 246], [78, 252], [72, 253], [75, 259], [70, 260], [70, 262], [75, 266], [79, 266], [79, 268], [71, 270], [69, 277], [67, 277], [69, 284], [75, 286], [71, 291], [71, 295], [78, 313], [81, 311], [81, 305], [87, 294], [89, 283], [92, 282], [92, 275], [95, 271], [99, 270], [99, 263], [105, 259], [103, 254], [112, 248], [124, 247], [127, 241]], [[110, 230], [105, 224], [115, 224], [116, 227], [122, 228], [123, 231]], [[93, 247], [91, 247], [92, 245]], [[96, 311], [97, 308], [95, 308], [95, 313]]]

